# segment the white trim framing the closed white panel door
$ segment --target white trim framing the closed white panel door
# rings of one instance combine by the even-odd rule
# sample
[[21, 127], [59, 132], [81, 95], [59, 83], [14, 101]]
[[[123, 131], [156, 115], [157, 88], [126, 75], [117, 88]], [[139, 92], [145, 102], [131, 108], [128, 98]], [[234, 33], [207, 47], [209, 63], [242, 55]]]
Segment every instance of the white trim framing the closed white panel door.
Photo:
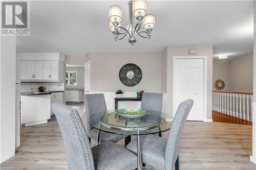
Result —
[[173, 116], [176, 113], [175, 110], [175, 69], [176, 69], [176, 59], [203, 59], [204, 60], [204, 89], [203, 89], [203, 122], [212, 122], [210, 119], [207, 119], [207, 56], [173, 56]]

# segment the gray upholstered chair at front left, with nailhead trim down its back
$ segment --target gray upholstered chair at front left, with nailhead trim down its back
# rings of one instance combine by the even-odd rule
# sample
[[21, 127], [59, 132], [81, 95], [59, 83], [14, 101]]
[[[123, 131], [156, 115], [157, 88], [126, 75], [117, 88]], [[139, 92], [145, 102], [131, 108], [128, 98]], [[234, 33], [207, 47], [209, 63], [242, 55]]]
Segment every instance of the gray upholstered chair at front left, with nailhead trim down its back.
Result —
[[52, 108], [64, 139], [68, 169], [132, 170], [137, 168], [137, 156], [112, 141], [105, 141], [91, 148], [76, 109], [60, 103], [54, 103]]

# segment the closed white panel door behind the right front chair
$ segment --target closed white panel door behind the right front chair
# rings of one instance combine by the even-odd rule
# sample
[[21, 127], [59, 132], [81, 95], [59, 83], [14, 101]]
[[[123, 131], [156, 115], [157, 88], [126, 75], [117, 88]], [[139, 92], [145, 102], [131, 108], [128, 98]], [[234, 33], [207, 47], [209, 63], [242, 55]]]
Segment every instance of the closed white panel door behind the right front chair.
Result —
[[175, 112], [181, 102], [193, 99], [194, 105], [187, 120], [203, 120], [203, 59], [176, 59], [174, 64]]

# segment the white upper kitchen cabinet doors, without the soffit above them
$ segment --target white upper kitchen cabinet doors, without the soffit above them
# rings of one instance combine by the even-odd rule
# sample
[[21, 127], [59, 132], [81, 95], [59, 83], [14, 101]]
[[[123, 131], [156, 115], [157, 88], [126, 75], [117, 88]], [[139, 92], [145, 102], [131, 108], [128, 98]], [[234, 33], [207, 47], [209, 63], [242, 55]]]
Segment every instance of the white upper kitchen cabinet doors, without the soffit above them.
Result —
[[[62, 82], [63, 62], [56, 60], [20, 60], [20, 81]], [[25, 76], [24, 76], [25, 75]]]

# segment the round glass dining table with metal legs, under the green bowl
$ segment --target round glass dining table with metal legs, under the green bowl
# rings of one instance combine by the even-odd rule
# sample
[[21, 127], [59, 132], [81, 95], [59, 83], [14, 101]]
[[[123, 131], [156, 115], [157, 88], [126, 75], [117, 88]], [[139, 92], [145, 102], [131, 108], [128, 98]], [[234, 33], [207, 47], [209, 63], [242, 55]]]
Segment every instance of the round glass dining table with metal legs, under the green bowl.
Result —
[[117, 114], [117, 110], [108, 110], [91, 116], [89, 124], [98, 130], [97, 143], [101, 131], [129, 136], [137, 135], [138, 170], [141, 170], [140, 136], [167, 131], [172, 126], [172, 120], [173, 117], [166, 113], [151, 110], [147, 110], [147, 114], [140, 118], [124, 118]]

